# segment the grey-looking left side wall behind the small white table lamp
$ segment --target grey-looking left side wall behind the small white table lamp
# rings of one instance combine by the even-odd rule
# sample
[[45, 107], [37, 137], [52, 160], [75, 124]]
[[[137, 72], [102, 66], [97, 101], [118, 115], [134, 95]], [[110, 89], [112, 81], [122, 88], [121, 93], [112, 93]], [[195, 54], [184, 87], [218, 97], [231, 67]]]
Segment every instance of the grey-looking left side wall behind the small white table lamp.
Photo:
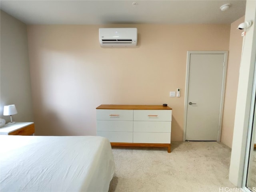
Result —
[[33, 122], [28, 39], [26, 24], [1, 10], [1, 70], [0, 70], [0, 116], [4, 105], [15, 104], [16, 122]]

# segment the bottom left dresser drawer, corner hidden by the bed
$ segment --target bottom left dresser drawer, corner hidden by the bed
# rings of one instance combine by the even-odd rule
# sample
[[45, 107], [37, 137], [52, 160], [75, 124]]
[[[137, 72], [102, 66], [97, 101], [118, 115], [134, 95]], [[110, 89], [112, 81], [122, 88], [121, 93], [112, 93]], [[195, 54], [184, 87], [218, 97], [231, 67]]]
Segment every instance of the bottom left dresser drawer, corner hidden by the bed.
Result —
[[110, 142], [132, 143], [132, 132], [97, 131], [97, 136], [106, 137]]

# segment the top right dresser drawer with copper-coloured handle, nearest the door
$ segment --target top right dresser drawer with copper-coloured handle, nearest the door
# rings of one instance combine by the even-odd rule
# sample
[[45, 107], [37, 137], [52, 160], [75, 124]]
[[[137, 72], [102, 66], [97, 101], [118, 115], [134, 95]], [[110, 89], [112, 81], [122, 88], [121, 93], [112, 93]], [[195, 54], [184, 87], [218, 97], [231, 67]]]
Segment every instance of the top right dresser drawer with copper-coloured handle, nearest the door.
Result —
[[171, 121], [172, 110], [134, 110], [134, 121]]

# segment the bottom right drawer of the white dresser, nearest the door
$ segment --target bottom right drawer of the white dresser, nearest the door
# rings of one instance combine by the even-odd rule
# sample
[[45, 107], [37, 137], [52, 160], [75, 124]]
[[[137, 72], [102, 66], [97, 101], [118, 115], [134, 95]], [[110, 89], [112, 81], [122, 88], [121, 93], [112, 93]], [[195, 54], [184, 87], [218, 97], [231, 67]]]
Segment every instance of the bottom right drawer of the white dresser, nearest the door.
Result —
[[171, 143], [171, 133], [133, 133], [134, 143]]

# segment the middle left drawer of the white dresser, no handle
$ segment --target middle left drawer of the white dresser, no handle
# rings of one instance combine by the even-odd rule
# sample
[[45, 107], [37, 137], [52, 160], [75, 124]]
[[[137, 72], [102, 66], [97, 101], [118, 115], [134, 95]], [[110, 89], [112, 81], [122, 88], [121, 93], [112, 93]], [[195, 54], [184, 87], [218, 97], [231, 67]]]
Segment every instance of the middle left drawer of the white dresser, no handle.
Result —
[[132, 132], [133, 122], [97, 120], [97, 131]]

